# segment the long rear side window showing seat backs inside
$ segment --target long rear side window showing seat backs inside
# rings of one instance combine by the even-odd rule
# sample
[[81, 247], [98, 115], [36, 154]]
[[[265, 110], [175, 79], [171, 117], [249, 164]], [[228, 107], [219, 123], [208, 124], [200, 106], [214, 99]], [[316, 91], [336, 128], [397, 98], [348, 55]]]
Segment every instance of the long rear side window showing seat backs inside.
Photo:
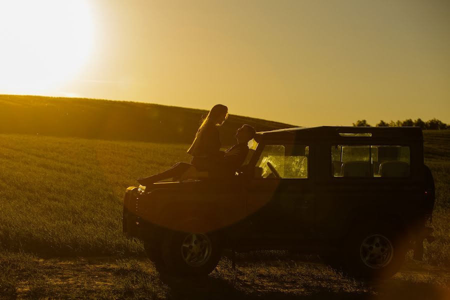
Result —
[[409, 163], [407, 146], [331, 146], [334, 177], [408, 177]]

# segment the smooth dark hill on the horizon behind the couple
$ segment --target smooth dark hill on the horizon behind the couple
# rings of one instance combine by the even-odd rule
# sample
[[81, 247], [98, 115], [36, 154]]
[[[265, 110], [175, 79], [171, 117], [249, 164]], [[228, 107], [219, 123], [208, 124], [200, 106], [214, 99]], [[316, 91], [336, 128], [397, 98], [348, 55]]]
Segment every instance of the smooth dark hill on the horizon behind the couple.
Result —
[[[151, 103], [0, 95], [0, 133], [188, 143], [206, 114], [206, 110]], [[294, 127], [230, 114], [220, 128], [222, 143], [232, 144], [234, 132], [244, 123], [256, 131]]]

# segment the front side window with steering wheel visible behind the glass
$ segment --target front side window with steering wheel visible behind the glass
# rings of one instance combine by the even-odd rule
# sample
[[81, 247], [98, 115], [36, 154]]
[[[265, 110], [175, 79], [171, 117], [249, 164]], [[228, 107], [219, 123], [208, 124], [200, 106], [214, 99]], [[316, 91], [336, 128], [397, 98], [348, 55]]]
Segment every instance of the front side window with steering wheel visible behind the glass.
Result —
[[257, 163], [263, 178], [274, 177], [267, 165], [271, 163], [281, 178], [308, 177], [309, 146], [265, 145]]

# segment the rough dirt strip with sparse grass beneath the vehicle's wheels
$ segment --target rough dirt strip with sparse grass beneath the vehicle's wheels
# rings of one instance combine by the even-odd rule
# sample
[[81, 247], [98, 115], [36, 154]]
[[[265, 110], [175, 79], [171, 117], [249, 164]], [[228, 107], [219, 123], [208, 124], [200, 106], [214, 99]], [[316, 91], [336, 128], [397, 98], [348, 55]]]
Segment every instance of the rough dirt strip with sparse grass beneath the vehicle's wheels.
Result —
[[223, 258], [209, 276], [185, 279], [160, 277], [145, 258], [49, 258], [38, 265], [41, 280], [19, 281], [14, 298], [450, 299], [450, 268], [412, 260], [379, 282], [295, 259], [239, 259], [233, 270]]

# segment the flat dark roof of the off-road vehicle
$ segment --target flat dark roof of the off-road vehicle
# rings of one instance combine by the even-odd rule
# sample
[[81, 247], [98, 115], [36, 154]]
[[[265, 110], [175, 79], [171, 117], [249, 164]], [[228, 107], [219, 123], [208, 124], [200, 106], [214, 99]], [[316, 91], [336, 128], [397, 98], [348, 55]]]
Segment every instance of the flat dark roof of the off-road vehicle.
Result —
[[257, 132], [257, 141], [261, 140], [423, 140], [420, 127], [353, 127], [318, 126], [294, 127]]

